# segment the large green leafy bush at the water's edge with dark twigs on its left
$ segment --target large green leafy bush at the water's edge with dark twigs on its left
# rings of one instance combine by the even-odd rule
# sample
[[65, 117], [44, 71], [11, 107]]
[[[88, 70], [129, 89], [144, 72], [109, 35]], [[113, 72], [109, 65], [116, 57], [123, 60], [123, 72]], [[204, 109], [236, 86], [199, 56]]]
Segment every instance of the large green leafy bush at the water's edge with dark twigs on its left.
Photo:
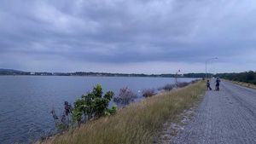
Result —
[[[102, 94], [102, 86], [97, 84], [91, 92], [82, 95], [79, 100], [75, 101], [73, 103], [74, 107], [65, 101], [65, 111], [60, 118], [55, 114], [55, 110], [53, 109], [51, 113], [55, 119], [57, 130], [66, 130], [70, 125], [73, 126], [75, 123], [85, 123], [88, 120], [109, 116], [117, 112], [116, 106], [110, 109], [108, 108], [109, 101], [111, 101], [114, 95], [113, 92], [108, 91], [103, 96]], [[72, 117], [73, 121], [69, 117]]]

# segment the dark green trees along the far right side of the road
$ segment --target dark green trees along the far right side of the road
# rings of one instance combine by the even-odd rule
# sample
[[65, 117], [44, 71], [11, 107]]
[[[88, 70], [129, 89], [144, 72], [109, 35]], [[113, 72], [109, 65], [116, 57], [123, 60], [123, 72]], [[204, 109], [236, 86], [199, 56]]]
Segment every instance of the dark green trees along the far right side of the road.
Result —
[[218, 73], [216, 77], [249, 84], [256, 84], [256, 72], [253, 71], [239, 73]]

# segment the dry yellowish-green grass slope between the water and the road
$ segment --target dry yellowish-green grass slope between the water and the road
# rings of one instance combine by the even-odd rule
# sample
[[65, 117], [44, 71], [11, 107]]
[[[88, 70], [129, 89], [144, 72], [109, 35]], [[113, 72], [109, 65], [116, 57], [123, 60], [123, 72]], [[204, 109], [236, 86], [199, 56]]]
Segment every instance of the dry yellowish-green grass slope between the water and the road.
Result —
[[148, 144], [167, 120], [175, 120], [205, 93], [205, 82], [191, 84], [131, 104], [111, 117], [100, 118], [55, 135], [43, 143]]

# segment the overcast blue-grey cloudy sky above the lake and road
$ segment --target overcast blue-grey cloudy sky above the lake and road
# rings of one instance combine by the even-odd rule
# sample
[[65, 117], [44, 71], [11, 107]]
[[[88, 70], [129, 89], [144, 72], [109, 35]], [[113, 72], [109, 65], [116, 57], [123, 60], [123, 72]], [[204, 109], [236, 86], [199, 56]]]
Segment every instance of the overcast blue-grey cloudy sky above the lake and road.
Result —
[[255, 0], [0, 1], [0, 68], [244, 72], [255, 55]]

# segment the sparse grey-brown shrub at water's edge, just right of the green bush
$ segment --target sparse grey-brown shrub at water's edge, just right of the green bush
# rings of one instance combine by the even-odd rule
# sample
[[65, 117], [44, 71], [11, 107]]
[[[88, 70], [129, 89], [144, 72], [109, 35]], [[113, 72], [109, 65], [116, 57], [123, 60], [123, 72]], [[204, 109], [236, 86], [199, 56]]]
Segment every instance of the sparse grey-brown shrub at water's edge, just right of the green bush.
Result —
[[134, 94], [131, 89], [128, 87], [119, 89], [119, 95], [116, 97], [113, 97], [113, 101], [120, 103], [120, 104], [129, 104], [131, 101], [134, 101], [134, 99], [137, 98], [137, 95]]

